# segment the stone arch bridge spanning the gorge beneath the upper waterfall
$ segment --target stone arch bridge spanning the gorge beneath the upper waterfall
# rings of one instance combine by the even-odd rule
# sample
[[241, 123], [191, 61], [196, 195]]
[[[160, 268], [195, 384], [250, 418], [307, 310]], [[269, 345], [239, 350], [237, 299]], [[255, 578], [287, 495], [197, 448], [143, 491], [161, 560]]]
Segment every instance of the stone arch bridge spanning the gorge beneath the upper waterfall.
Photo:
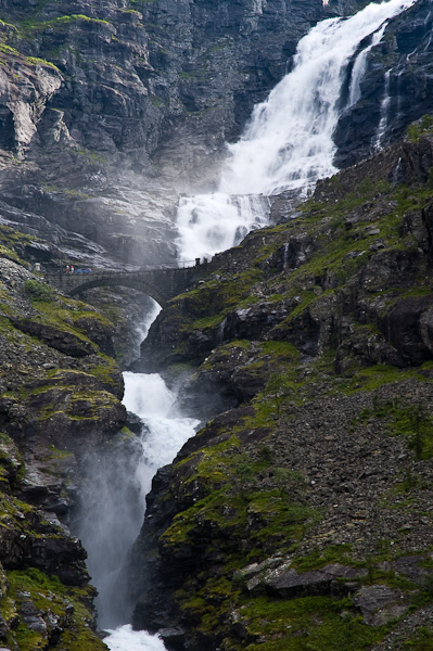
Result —
[[46, 281], [69, 296], [102, 286], [125, 286], [139, 290], [165, 307], [174, 296], [184, 292], [208, 270], [211, 264], [194, 267], [156, 267], [139, 271], [92, 271], [91, 273], [48, 272]]

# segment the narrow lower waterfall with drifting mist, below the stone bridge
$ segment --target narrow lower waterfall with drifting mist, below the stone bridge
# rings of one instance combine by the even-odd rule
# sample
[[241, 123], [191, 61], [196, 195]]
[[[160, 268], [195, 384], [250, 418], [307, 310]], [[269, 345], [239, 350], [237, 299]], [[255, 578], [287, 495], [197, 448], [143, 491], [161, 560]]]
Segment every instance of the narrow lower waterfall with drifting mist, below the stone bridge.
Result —
[[[148, 332], [160, 309], [155, 304], [140, 332]], [[153, 475], [173, 461], [200, 421], [179, 413], [177, 395], [161, 375], [125, 372], [124, 382], [123, 401], [142, 420], [141, 435], [126, 445], [114, 441], [104, 451], [88, 455], [82, 506], [72, 529], [88, 553], [87, 566], [99, 592], [99, 626], [110, 633], [104, 639], [109, 649], [164, 651], [160, 638], [126, 624], [133, 604], [126, 598], [123, 571], [141, 528]]]

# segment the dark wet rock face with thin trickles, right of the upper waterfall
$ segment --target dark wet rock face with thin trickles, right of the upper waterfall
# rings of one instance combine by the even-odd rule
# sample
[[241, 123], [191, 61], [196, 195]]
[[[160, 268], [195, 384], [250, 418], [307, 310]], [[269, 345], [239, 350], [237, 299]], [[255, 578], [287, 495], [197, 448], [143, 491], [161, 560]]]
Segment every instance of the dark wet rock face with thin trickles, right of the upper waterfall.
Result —
[[391, 21], [370, 52], [361, 98], [343, 113], [334, 135], [338, 167], [395, 142], [412, 122], [431, 113], [432, 22], [430, 1], [420, 0]]

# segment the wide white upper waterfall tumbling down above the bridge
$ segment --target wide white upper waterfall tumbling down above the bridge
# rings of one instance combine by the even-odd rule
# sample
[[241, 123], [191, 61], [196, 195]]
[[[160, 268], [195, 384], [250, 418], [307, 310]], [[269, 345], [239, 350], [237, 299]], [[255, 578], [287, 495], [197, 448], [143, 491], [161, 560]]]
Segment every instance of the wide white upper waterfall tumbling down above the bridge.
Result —
[[371, 36], [353, 66], [349, 102], [354, 103], [368, 51], [382, 38], [387, 21], [415, 2], [369, 4], [351, 18], [319, 23], [300, 41], [292, 72], [254, 108], [240, 141], [228, 145], [218, 192], [181, 200], [177, 217], [181, 261], [212, 257], [237, 245], [250, 230], [266, 226], [266, 196], [282, 191], [307, 195], [318, 179], [338, 171], [332, 136], [347, 106], [341, 95], [351, 58]]

